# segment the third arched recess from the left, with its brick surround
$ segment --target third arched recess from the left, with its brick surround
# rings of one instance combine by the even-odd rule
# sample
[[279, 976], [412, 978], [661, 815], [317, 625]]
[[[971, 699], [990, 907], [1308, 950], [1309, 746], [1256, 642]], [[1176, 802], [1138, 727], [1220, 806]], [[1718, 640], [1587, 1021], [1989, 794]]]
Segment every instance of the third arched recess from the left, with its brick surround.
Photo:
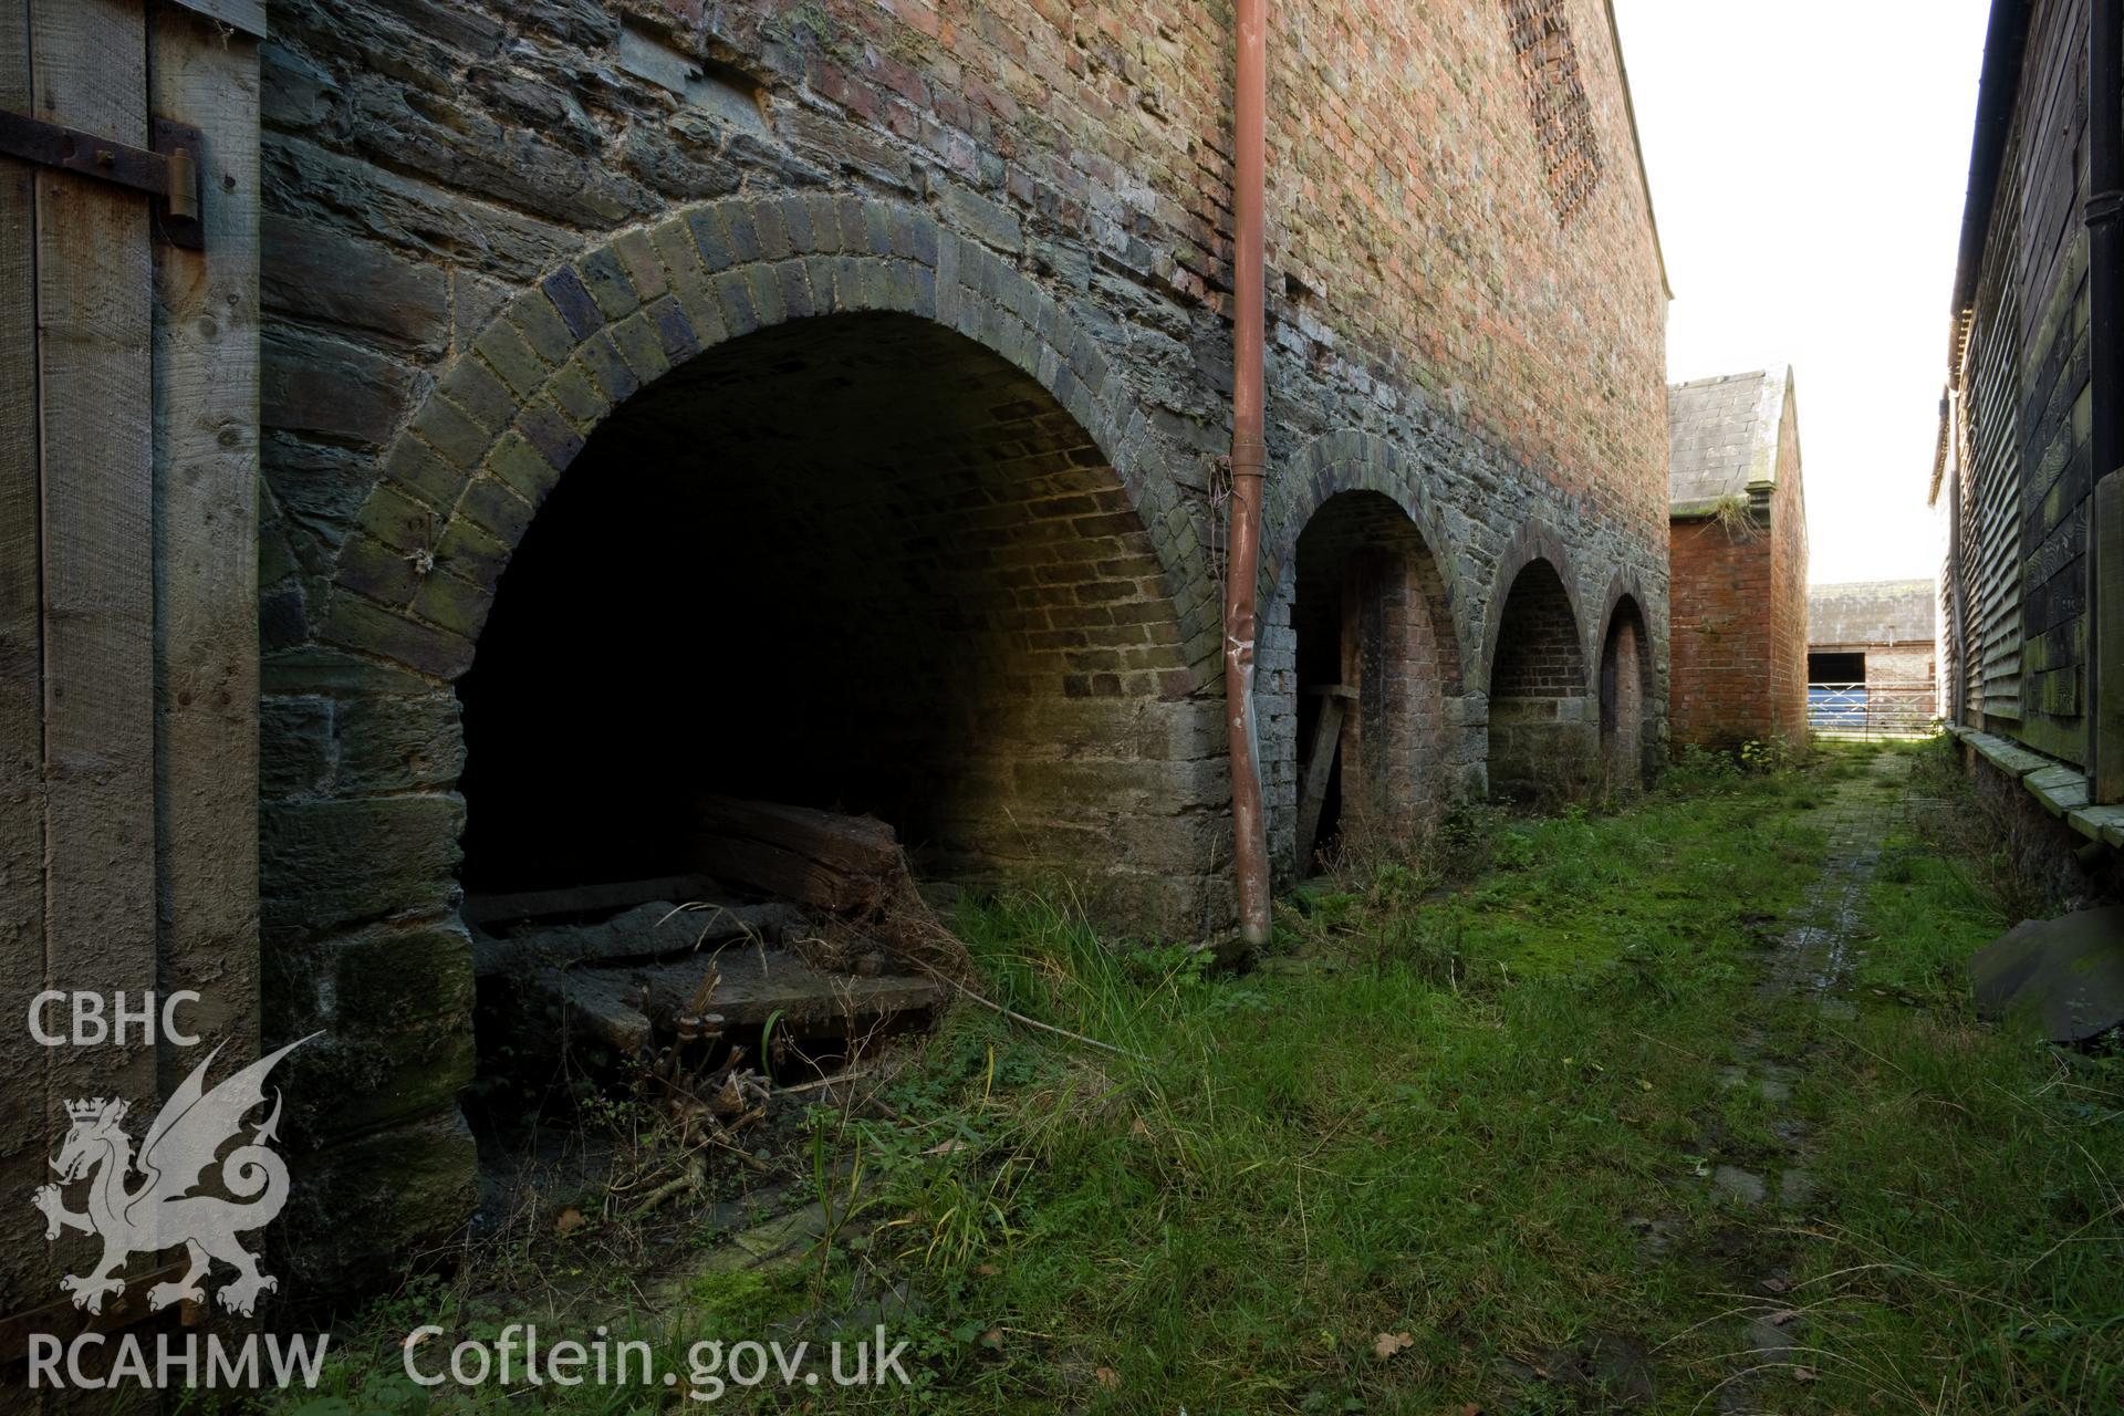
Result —
[[1597, 766], [1572, 584], [1561, 546], [1542, 531], [1523, 533], [1504, 563], [1489, 635], [1489, 788], [1500, 800], [1572, 796]]

